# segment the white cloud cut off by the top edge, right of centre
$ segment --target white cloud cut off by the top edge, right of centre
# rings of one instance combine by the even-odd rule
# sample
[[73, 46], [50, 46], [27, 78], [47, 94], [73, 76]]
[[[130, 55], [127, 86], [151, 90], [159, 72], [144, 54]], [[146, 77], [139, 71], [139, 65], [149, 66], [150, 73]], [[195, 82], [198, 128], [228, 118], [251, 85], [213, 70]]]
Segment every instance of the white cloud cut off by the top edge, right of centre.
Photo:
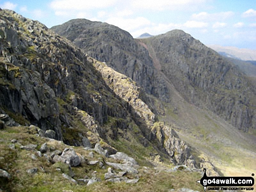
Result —
[[134, 8], [149, 10], [173, 10], [188, 5], [203, 3], [205, 0], [133, 0]]

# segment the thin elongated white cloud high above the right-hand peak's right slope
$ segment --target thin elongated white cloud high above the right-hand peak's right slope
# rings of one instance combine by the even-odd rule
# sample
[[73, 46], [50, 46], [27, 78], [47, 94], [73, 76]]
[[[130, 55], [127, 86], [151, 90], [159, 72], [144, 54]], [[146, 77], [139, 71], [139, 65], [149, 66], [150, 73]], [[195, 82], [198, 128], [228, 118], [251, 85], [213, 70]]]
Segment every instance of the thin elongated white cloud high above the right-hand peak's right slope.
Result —
[[191, 16], [191, 19], [193, 20], [207, 20], [207, 21], [213, 21], [213, 20], [225, 20], [229, 17], [232, 17], [235, 13], [232, 11], [227, 12], [219, 12], [219, 13], [207, 13], [207, 12], [201, 12], [201, 13], [194, 13]]

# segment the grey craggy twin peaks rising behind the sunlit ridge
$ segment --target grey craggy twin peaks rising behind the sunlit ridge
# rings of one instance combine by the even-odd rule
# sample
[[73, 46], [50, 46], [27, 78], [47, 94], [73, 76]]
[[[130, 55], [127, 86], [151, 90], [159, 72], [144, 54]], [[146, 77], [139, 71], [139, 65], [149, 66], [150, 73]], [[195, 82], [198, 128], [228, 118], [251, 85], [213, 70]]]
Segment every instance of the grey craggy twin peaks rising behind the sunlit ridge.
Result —
[[[256, 126], [255, 91], [249, 80], [231, 62], [181, 30], [135, 40], [118, 27], [83, 19], [51, 29], [132, 78], [146, 94], [169, 102], [171, 83], [186, 101], [208, 108], [234, 127], [248, 131]], [[151, 110], [157, 108], [155, 100], [143, 96]]]

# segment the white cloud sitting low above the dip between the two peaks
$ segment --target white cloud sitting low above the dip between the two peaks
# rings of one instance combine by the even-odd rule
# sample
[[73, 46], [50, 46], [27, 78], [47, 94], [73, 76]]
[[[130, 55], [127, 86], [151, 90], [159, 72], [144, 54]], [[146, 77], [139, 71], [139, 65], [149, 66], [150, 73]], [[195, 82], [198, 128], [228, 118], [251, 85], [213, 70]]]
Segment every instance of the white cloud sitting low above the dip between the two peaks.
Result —
[[108, 24], [120, 27], [123, 30], [131, 31], [138, 27], [150, 25], [151, 22], [144, 17], [137, 17], [135, 19], [124, 19], [122, 17], [111, 17], [105, 21]]

